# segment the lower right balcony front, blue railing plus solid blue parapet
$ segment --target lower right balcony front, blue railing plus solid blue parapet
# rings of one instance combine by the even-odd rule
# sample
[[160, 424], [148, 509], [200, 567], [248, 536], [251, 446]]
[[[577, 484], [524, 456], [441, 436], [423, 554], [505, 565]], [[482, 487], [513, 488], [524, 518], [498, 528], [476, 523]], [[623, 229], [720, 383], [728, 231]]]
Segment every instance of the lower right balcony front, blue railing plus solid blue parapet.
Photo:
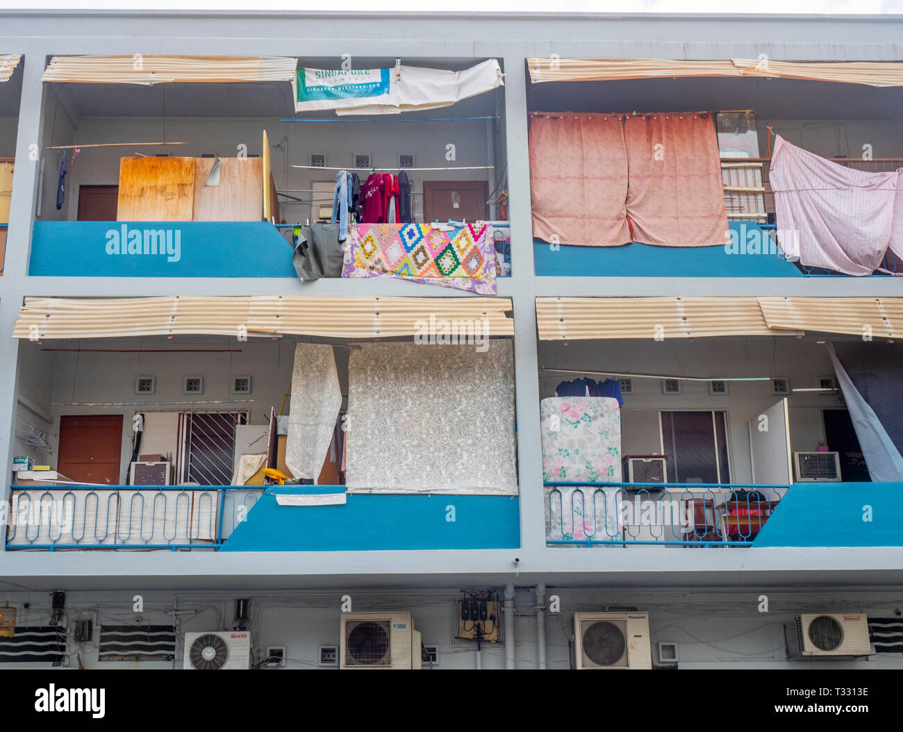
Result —
[[899, 547], [903, 483], [546, 483], [545, 515], [554, 548]]

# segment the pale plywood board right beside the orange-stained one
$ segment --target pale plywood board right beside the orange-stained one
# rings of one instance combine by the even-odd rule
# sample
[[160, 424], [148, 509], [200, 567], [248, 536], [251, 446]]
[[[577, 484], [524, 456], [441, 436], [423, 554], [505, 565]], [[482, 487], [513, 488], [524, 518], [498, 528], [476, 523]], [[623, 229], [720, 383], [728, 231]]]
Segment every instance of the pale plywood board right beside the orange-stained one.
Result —
[[207, 180], [216, 158], [194, 159], [195, 221], [259, 221], [264, 205], [260, 158], [219, 158], [219, 185]]

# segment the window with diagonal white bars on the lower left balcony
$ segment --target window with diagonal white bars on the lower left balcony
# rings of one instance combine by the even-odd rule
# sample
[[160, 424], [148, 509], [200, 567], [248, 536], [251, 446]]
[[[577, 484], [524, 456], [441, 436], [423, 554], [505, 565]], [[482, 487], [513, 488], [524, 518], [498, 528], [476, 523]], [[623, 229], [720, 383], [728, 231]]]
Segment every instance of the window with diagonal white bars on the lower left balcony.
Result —
[[182, 483], [228, 486], [235, 464], [235, 428], [247, 412], [185, 412], [179, 420]]

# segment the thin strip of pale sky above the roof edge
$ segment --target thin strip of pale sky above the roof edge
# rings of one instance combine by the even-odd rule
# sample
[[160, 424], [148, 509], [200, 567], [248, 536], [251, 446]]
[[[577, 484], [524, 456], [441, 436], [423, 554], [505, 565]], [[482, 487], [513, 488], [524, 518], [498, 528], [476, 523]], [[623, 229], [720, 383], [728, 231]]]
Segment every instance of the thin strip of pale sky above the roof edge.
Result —
[[[903, 14], [903, 0], [433, 0], [429, 10], [533, 13]], [[340, 10], [416, 11], [423, 0], [0, 0], [3, 9], [65, 10]]]

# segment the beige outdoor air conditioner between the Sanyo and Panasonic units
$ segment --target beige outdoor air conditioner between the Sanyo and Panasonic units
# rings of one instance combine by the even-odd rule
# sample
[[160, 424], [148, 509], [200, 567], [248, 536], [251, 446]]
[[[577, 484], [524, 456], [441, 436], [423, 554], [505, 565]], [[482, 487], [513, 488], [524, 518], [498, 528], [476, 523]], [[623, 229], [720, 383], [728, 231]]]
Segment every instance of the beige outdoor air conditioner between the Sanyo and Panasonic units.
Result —
[[420, 634], [410, 613], [343, 613], [342, 669], [420, 669]]

